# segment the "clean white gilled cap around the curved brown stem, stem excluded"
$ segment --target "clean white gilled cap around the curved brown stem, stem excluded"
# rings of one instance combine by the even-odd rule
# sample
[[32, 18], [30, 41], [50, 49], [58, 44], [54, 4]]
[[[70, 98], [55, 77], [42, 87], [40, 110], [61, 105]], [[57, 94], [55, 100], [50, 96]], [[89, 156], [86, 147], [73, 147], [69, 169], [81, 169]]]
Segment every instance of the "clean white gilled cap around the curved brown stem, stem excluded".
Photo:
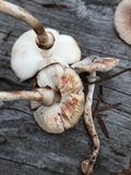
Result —
[[34, 31], [25, 32], [15, 42], [12, 48], [11, 67], [21, 81], [32, 78], [49, 63], [61, 62], [67, 66], [81, 59], [80, 47], [71, 36], [60, 35], [51, 28], [46, 28], [46, 32], [52, 33], [56, 39], [48, 50], [38, 48]]

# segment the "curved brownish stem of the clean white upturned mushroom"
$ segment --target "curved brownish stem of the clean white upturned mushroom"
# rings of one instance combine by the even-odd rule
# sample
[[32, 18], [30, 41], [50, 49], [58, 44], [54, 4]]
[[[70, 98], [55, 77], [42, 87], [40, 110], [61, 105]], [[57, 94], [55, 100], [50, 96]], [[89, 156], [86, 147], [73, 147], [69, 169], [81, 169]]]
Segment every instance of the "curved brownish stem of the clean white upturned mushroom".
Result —
[[46, 33], [41, 23], [28, 11], [10, 2], [0, 0], [0, 12], [8, 13], [28, 24], [37, 35], [36, 44], [38, 45], [38, 47], [40, 47], [41, 49], [49, 49], [52, 47], [55, 43], [53, 35], [49, 32]]

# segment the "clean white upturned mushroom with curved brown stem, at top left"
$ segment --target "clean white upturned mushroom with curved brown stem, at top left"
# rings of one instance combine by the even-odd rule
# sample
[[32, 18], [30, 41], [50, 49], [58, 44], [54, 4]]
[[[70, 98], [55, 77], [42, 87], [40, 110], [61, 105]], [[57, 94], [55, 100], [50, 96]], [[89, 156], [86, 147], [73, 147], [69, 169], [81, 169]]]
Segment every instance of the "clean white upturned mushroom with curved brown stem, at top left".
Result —
[[68, 66], [81, 59], [80, 47], [73, 37], [44, 28], [31, 13], [10, 2], [0, 0], [0, 11], [24, 21], [34, 30], [21, 35], [12, 48], [11, 68], [21, 81], [34, 77], [49, 63]]

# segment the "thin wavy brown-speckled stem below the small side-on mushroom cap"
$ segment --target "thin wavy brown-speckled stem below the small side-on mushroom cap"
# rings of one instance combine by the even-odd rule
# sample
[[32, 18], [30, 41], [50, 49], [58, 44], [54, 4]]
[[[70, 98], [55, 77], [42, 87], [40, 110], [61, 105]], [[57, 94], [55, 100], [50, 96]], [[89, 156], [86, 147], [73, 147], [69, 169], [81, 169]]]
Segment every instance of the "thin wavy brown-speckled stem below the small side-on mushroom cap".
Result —
[[[93, 82], [96, 77], [96, 71], [90, 73], [88, 81]], [[87, 156], [86, 160], [82, 162], [82, 171], [86, 175], [91, 175], [93, 173], [93, 168], [98, 155], [98, 151], [100, 148], [98, 135], [95, 129], [95, 125], [92, 116], [92, 104], [93, 104], [93, 94], [95, 90], [95, 84], [88, 85], [88, 92], [86, 95], [85, 109], [84, 109], [84, 121], [87, 128], [87, 131], [93, 141], [93, 152]]]

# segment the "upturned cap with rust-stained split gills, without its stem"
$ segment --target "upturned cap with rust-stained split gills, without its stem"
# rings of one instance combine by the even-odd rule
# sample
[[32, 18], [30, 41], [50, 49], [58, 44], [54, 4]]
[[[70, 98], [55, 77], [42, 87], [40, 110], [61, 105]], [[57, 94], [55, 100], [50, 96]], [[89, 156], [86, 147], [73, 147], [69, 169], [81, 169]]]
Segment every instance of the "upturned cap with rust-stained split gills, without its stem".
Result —
[[48, 107], [43, 105], [34, 113], [38, 125], [44, 130], [53, 133], [60, 133], [64, 128], [72, 128], [84, 110], [83, 84], [79, 74], [73, 69], [53, 63], [38, 73], [37, 82], [39, 86], [48, 85], [61, 95], [59, 103], [53, 103]]

